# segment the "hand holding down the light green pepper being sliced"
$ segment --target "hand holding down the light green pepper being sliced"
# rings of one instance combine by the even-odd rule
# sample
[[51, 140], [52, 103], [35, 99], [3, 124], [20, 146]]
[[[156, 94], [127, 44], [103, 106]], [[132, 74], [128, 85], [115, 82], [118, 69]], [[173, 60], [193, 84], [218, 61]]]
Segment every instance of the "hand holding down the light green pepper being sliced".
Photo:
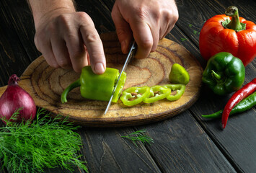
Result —
[[102, 41], [86, 13], [56, 9], [40, 17], [35, 30], [35, 45], [50, 66], [80, 73], [90, 64], [95, 74], [105, 72]]

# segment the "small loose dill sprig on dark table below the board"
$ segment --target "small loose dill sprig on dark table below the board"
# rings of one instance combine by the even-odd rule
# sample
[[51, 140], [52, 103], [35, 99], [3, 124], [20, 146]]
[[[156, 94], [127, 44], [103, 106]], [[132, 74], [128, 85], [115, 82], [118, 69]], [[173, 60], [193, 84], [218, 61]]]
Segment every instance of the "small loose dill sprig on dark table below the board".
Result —
[[128, 138], [137, 146], [136, 141], [141, 141], [143, 144], [145, 143], [154, 143], [153, 139], [149, 136], [146, 136], [146, 130], [138, 130], [135, 131], [128, 136], [121, 136], [122, 138]]

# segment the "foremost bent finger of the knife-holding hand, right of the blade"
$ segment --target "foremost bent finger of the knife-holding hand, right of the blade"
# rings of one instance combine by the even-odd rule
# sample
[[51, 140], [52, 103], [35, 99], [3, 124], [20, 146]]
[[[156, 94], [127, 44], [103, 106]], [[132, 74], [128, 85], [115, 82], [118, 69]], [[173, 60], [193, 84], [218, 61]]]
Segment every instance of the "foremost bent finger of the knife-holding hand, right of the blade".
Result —
[[151, 52], [153, 46], [153, 36], [149, 25], [145, 22], [131, 22], [133, 37], [138, 45], [136, 58], [146, 58]]

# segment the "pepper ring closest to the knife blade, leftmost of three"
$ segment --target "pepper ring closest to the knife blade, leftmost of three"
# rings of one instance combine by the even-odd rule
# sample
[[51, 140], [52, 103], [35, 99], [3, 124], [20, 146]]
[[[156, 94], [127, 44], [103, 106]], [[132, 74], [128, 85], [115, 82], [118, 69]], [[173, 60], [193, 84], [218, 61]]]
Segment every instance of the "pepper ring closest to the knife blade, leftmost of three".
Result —
[[122, 100], [123, 105], [133, 106], [133, 105], [139, 104], [140, 102], [143, 102], [146, 97], [149, 97], [149, 94], [150, 94], [149, 86], [142, 86], [142, 87], [132, 86], [123, 91], [120, 99]]

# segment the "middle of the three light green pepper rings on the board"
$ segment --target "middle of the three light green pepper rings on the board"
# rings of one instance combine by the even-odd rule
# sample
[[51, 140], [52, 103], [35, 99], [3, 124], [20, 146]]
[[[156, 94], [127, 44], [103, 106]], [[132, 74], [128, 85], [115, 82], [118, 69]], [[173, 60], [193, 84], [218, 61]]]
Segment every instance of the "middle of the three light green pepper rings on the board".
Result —
[[171, 89], [169, 88], [164, 88], [163, 86], [160, 86], [160, 85], [151, 86], [149, 91], [149, 97], [146, 97], [146, 99], [144, 99], [144, 102], [145, 103], [156, 102], [160, 99], [164, 99], [165, 97], [169, 96], [169, 94], [171, 94]]

